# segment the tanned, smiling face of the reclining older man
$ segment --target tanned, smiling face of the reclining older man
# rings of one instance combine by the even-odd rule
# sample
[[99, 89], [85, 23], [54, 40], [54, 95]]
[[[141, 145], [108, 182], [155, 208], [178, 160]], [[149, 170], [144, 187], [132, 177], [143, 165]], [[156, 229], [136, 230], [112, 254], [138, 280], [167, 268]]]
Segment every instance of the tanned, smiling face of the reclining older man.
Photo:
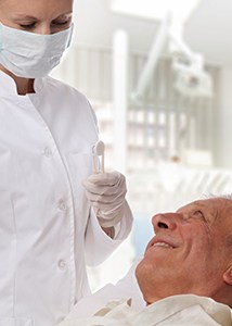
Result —
[[155, 237], [137, 267], [144, 299], [217, 297], [232, 261], [232, 201], [206, 199], [152, 220]]

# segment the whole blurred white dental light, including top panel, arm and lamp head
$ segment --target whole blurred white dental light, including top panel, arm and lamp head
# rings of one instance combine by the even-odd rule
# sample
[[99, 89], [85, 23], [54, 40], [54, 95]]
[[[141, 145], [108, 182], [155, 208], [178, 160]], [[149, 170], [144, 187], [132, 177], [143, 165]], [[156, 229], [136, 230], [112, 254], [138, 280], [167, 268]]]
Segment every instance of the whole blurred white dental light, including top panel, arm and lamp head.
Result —
[[111, 0], [115, 13], [159, 21], [160, 28], [151, 47], [147, 61], [139, 78], [133, 100], [142, 100], [158, 59], [167, 53], [175, 75], [173, 87], [186, 97], [211, 97], [212, 82], [205, 71], [204, 59], [193, 53], [183, 41], [182, 29], [201, 0]]

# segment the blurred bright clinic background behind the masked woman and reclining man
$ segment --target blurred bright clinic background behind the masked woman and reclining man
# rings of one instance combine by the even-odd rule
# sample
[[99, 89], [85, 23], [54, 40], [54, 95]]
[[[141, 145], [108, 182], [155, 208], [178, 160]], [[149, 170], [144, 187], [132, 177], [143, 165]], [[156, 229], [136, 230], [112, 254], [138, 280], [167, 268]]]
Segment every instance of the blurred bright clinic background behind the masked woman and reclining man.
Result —
[[88, 97], [134, 215], [130, 238], [89, 268], [93, 290], [143, 253], [153, 214], [231, 192], [231, 0], [75, 2], [73, 42], [52, 75]]

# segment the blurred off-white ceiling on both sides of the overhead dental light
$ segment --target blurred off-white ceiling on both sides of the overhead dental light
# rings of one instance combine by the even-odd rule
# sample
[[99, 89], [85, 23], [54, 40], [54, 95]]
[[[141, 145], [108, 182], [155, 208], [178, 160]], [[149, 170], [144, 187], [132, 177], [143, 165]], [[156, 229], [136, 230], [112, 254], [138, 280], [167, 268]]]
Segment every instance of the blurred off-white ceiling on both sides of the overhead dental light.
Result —
[[[131, 50], [149, 52], [160, 22], [112, 13], [109, 0], [76, 0], [75, 25], [79, 45], [108, 48], [114, 32], [123, 28], [128, 32]], [[188, 46], [203, 53], [207, 62], [232, 65], [232, 0], [201, 0], [184, 30]]]

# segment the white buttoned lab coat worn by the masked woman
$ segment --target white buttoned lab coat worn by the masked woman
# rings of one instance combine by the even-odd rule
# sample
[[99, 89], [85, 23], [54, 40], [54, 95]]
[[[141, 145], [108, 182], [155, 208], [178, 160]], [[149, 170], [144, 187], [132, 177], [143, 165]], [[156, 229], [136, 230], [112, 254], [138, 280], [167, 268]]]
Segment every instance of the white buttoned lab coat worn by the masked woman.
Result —
[[107, 258], [131, 214], [115, 240], [88, 218], [98, 127], [82, 95], [51, 77], [27, 96], [2, 72], [0, 85], [0, 326], [51, 326], [89, 291], [86, 262]]

